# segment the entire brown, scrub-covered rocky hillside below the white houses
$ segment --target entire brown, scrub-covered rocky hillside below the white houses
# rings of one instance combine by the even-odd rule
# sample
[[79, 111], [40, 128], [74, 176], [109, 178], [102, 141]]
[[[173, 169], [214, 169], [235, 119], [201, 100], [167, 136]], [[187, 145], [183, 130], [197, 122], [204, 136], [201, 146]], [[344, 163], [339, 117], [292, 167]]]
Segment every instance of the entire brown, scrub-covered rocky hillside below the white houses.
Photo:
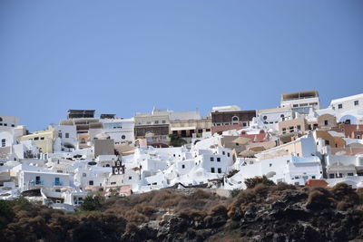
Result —
[[250, 185], [87, 198], [74, 214], [0, 201], [1, 241], [349, 241], [363, 239], [363, 189]]

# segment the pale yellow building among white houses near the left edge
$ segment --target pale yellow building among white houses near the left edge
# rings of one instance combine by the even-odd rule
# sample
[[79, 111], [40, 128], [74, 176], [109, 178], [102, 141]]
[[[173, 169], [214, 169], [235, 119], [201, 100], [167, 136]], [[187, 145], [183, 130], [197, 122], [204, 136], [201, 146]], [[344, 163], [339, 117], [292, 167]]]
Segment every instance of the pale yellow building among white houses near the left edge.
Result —
[[19, 141], [34, 140], [36, 147], [43, 153], [53, 153], [53, 144], [55, 138], [58, 137], [58, 131], [54, 131], [50, 125], [48, 130], [35, 131], [34, 133], [24, 135], [19, 138]]

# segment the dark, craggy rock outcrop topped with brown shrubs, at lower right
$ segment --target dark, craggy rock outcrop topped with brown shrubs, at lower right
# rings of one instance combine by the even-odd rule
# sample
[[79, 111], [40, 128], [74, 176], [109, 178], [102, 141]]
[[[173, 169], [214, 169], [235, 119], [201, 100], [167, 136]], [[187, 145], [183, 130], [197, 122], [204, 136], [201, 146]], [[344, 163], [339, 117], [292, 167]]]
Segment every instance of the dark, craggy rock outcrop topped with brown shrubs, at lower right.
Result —
[[349, 241], [363, 239], [363, 211], [356, 191], [257, 186], [229, 206], [163, 218], [123, 235], [127, 241]]

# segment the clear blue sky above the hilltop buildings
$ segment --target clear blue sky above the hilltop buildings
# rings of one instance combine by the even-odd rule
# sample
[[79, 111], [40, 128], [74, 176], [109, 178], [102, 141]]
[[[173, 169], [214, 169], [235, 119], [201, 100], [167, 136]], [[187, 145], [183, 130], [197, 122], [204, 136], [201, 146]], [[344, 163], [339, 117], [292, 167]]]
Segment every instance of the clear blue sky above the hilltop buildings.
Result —
[[363, 1], [0, 1], [0, 114], [132, 117], [363, 92]]

